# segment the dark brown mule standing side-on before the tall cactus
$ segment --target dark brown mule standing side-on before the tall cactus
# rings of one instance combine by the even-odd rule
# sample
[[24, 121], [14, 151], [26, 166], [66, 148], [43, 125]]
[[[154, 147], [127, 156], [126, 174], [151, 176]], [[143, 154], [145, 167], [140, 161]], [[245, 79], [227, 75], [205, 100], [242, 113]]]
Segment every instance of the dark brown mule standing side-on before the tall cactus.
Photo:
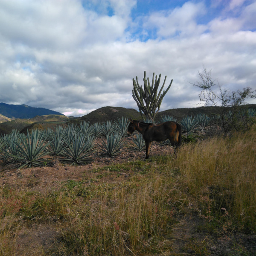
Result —
[[127, 134], [131, 135], [134, 131], [142, 134], [146, 144], [146, 158], [152, 141], [164, 141], [169, 139], [172, 146], [177, 148], [181, 144], [181, 126], [177, 122], [164, 122], [161, 124], [148, 124], [130, 119]]

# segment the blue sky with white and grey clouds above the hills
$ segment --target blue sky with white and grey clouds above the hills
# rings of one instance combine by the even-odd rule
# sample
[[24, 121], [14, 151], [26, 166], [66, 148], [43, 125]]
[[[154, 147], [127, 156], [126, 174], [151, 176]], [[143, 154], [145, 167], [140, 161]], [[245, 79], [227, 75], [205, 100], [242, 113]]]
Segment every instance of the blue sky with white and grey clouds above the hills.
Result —
[[138, 110], [132, 79], [146, 71], [164, 89], [173, 79], [160, 111], [194, 108], [203, 66], [227, 90], [255, 90], [255, 17], [255, 0], [0, 0], [0, 102]]

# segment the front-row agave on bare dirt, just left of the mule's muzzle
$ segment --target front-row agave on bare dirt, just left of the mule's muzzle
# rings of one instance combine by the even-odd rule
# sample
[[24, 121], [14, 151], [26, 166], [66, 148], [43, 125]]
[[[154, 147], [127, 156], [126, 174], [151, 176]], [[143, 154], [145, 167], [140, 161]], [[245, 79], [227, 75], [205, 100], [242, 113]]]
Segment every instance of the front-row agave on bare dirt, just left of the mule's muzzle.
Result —
[[117, 132], [111, 133], [110, 135], [106, 135], [106, 139], [106, 142], [102, 140], [102, 145], [99, 145], [99, 155], [102, 157], [113, 157], [119, 154], [124, 144], [122, 134]]

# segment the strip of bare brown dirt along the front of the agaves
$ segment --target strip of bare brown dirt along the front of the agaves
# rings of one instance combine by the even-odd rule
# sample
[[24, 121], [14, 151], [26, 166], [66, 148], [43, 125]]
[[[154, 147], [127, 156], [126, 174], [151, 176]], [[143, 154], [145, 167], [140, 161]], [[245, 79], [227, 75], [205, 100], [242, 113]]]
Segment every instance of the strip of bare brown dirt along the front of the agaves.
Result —
[[[98, 139], [96, 144], [100, 143], [100, 140]], [[129, 145], [128, 142], [130, 141], [130, 138], [126, 139], [127, 143], [125, 145]], [[150, 156], [172, 154], [173, 152], [172, 146], [153, 142]], [[60, 163], [58, 158], [54, 157], [51, 157], [50, 163], [47, 166], [20, 170], [17, 169], [17, 166], [4, 166], [0, 164], [0, 185], [8, 184], [16, 190], [23, 190], [24, 188], [27, 190], [29, 187], [32, 191], [36, 190], [45, 193], [48, 190], [57, 188], [59, 183], [66, 180], [81, 180], [85, 179], [85, 177], [88, 177], [88, 179], [95, 178], [99, 173], [93, 174], [91, 172], [92, 169], [128, 161], [144, 160], [145, 150], [137, 151], [131, 146], [124, 146], [121, 149], [121, 153], [115, 157], [99, 157], [96, 151], [91, 156], [93, 161], [82, 166], [70, 166], [69, 164]], [[125, 176], [127, 175], [120, 175], [119, 179], [122, 180]], [[102, 181], [111, 182], [111, 180]]]

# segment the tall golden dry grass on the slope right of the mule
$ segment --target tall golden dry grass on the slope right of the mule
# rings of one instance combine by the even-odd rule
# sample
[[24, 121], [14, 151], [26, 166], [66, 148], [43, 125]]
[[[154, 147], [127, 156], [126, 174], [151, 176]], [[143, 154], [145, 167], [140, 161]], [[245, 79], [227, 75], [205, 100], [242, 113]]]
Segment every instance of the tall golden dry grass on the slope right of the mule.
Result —
[[183, 188], [208, 204], [209, 218], [228, 215], [242, 229], [256, 230], [256, 131], [183, 145], [171, 163]]

